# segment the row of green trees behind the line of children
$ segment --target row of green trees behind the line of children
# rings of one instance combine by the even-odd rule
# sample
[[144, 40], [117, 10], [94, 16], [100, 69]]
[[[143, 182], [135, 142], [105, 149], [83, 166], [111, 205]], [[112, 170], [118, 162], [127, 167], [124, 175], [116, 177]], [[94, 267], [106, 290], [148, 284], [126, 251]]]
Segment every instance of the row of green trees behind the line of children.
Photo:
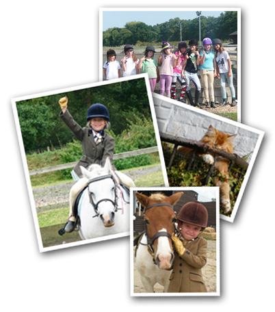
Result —
[[[181, 23], [181, 27], [179, 26]], [[181, 20], [171, 18], [168, 22], [154, 26], [142, 22], [130, 22], [124, 28], [109, 28], [103, 31], [103, 46], [116, 47], [137, 42], [161, 42], [198, 39], [198, 18]], [[219, 17], [200, 16], [200, 38], [229, 39], [229, 34], [237, 30], [237, 11], [226, 11]]]

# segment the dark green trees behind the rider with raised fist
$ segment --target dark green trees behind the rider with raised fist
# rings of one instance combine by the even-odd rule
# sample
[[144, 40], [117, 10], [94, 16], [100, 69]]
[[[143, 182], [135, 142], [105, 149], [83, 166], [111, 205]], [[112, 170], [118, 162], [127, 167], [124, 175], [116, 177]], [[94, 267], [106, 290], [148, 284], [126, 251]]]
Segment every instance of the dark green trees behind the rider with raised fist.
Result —
[[68, 96], [68, 110], [76, 122], [85, 127], [90, 105], [107, 107], [111, 129], [120, 135], [138, 118], [151, 120], [145, 79], [120, 81], [84, 90], [53, 94], [16, 102], [25, 151], [47, 146], [64, 145], [73, 141], [73, 134], [62, 122], [58, 101]]

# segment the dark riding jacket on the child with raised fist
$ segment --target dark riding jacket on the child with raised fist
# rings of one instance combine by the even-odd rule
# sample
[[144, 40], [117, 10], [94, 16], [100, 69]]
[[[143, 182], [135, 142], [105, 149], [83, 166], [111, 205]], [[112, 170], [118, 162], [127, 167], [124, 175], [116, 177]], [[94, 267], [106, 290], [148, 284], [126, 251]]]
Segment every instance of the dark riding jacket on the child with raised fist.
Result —
[[[64, 114], [62, 112], [60, 113], [60, 118], [62, 118], [70, 131], [73, 132], [73, 135], [75, 135], [75, 138], [81, 141], [82, 144], [83, 157], [74, 168], [75, 173], [79, 176], [79, 178], [82, 177], [82, 172], [79, 166], [83, 166], [84, 168], [87, 168], [91, 164], [104, 166], [107, 157], [109, 157], [112, 164], [115, 140], [111, 135], [105, 133], [102, 137], [102, 142], [96, 145], [96, 142], [94, 142], [94, 135], [91, 133], [91, 130], [86, 127], [80, 127], [79, 124], [73, 119], [73, 116], [70, 115], [68, 109], [66, 109]], [[113, 169], [116, 170], [114, 164]]]

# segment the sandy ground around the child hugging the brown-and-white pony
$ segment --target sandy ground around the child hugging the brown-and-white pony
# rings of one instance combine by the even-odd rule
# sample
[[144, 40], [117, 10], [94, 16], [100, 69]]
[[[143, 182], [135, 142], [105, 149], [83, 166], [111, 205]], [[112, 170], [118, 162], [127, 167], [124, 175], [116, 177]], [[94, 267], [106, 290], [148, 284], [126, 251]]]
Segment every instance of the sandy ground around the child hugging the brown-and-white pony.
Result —
[[[133, 255], [135, 254], [135, 249]], [[144, 285], [140, 280], [140, 274], [135, 268], [135, 257], [134, 259], [134, 292], [145, 293]], [[217, 291], [216, 287], [216, 241], [213, 239], [207, 239], [207, 264], [202, 268], [202, 277], [205, 280], [207, 292]], [[162, 293], [164, 287], [157, 283], [154, 287], [156, 293]]]

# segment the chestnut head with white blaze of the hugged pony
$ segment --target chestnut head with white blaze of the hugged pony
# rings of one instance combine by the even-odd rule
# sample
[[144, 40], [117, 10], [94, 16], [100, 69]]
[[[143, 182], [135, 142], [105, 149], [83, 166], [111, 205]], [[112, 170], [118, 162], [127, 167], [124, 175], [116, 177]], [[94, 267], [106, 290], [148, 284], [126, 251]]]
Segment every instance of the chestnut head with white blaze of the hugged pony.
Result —
[[174, 260], [172, 248], [172, 233], [176, 214], [172, 209], [183, 192], [166, 196], [161, 193], [151, 194], [149, 197], [135, 193], [137, 200], [145, 207], [144, 226], [147, 236], [148, 251], [155, 259], [160, 269], [170, 270]]

